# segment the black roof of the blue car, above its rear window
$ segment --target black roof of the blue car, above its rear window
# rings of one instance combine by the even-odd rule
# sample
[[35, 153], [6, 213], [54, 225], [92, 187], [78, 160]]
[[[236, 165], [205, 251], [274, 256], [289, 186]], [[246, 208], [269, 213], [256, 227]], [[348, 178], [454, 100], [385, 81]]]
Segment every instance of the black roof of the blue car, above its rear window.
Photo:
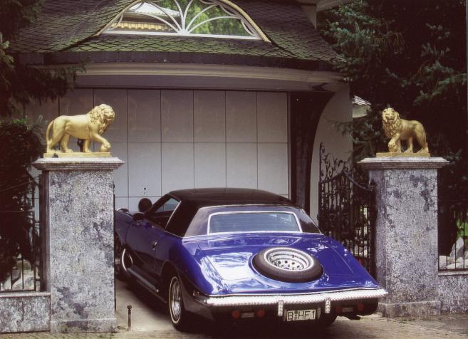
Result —
[[181, 189], [168, 195], [180, 201], [177, 210], [167, 224], [167, 231], [184, 236], [195, 214], [202, 207], [236, 205], [278, 205], [296, 207], [289, 199], [259, 189], [202, 188]]

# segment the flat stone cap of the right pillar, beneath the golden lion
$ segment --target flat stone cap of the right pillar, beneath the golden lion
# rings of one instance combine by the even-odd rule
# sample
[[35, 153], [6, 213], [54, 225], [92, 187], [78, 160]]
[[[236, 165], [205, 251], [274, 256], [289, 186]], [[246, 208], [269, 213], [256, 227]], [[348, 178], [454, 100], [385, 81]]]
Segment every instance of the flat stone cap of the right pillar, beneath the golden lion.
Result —
[[448, 163], [442, 157], [366, 157], [358, 162], [365, 170], [437, 170]]

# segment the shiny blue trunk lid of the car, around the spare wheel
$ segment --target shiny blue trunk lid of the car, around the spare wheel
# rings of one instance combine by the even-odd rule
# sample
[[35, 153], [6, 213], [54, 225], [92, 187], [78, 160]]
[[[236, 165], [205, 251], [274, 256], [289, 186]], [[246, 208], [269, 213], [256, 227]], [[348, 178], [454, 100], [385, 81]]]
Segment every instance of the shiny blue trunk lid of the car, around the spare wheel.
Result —
[[[349, 251], [323, 234], [231, 234], [210, 236], [197, 243], [222, 279], [226, 287], [223, 293], [310, 293], [378, 287]], [[279, 246], [315, 256], [323, 266], [323, 275], [306, 283], [286, 283], [261, 275], [252, 258], [263, 249]]]

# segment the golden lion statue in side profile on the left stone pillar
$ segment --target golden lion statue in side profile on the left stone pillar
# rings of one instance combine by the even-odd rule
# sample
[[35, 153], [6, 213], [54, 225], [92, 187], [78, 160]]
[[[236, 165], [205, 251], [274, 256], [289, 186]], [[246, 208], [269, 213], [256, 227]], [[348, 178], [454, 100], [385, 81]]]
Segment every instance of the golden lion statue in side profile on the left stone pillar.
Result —
[[[48, 124], [46, 132], [47, 153], [56, 153], [53, 147], [60, 142], [63, 152], [71, 153], [73, 150], [68, 148], [70, 137], [76, 137], [84, 140], [83, 152], [92, 152], [89, 149], [91, 140], [100, 142], [100, 152], [109, 152], [110, 143], [101, 135], [108, 129], [111, 122], [114, 121], [115, 113], [109, 105], [98, 105], [88, 113], [83, 115], [61, 115]], [[52, 129], [52, 137], [49, 137]]]

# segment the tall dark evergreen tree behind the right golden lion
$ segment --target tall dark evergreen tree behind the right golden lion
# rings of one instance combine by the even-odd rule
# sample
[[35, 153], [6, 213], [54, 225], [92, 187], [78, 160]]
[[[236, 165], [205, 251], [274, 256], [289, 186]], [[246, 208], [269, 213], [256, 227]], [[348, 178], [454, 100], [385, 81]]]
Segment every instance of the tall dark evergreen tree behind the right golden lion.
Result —
[[440, 199], [450, 201], [440, 229], [449, 251], [457, 221], [467, 218], [467, 66], [465, 1], [355, 0], [319, 16], [340, 58], [335, 68], [351, 93], [372, 103], [363, 118], [339, 127], [353, 139], [353, 160], [385, 152], [380, 113], [388, 105], [425, 125], [440, 171]]

